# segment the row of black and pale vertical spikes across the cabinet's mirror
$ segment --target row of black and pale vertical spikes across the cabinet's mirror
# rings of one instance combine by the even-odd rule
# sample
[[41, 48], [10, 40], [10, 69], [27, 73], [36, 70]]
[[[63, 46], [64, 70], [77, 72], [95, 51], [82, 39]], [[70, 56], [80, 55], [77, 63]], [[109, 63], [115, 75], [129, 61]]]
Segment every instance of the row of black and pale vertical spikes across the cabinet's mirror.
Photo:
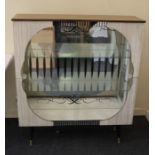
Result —
[[[33, 87], [30, 88], [31, 91], [54, 91], [55, 93], [57, 91], [67, 91], [78, 94], [80, 92], [91, 93], [91, 91], [117, 90], [121, 66], [121, 59], [118, 57], [57, 57], [55, 58], [55, 67], [53, 67], [52, 61], [53, 58], [51, 57], [31, 58], [29, 56], [30, 77], [32, 77], [32, 80], [35, 80]], [[33, 78], [34, 73], [36, 73], [36, 78]], [[46, 79], [48, 80], [46, 81]], [[36, 85], [38, 88], [36, 88]]]

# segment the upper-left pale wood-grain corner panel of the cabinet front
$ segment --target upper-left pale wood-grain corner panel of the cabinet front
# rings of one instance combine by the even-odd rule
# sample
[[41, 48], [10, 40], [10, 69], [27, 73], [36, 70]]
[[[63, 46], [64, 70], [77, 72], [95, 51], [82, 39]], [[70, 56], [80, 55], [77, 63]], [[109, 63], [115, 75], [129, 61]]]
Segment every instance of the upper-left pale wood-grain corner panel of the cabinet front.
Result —
[[51, 22], [20, 21], [13, 22], [16, 78], [21, 77], [21, 68], [25, 59], [25, 52], [28, 42], [32, 36], [43, 28], [52, 27]]

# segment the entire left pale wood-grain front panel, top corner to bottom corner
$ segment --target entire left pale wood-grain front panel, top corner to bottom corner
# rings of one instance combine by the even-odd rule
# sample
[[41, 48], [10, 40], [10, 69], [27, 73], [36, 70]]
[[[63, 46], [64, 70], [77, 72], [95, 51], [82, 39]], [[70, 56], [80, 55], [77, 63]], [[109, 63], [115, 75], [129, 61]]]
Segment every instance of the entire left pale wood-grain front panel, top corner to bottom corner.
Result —
[[51, 126], [52, 122], [45, 121], [34, 115], [27, 104], [22, 88], [21, 68], [25, 59], [26, 46], [32, 36], [39, 30], [51, 27], [52, 22], [14, 22], [14, 46], [17, 86], [17, 106], [20, 126]]

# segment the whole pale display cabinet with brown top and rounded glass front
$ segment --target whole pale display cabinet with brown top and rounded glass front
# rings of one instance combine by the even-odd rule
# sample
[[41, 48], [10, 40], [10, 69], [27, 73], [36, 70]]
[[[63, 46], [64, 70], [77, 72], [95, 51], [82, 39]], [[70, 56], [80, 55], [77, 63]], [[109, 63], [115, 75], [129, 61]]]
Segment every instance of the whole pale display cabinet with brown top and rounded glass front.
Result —
[[144, 20], [49, 14], [12, 20], [19, 126], [132, 124]]

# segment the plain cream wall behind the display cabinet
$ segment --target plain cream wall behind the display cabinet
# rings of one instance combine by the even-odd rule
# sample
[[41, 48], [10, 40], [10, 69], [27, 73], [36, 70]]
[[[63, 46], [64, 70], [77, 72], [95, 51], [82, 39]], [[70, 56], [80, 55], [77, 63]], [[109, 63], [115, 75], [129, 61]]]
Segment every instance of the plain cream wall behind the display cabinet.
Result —
[[[133, 15], [146, 20], [143, 52], [136, 98], [135, 113], [143, 115], [148, 109], [148, 0], [6, 0], [6, 51], [13, 53], [13, 25], [11, 18], [17, 13]], [[11, 77], [11, 75], [10, 75]], [[6, 81], [7, 82], [7, 81]], [[12, 81], [14, 82], [14, 81]], [[9, 88], [6, 88], [9, 89]], [[12, 90], [14, 91], [14, 90]], [[7, 95], [7, 93], [6, 93]], [[12, 103], [7, 103], [7, 105]], [[14, 106], [7, 106], [16, 108]], [[16, 110], [14, 110], [16, 111]], [[16, 115], [16, 114], [15, 114]]]

